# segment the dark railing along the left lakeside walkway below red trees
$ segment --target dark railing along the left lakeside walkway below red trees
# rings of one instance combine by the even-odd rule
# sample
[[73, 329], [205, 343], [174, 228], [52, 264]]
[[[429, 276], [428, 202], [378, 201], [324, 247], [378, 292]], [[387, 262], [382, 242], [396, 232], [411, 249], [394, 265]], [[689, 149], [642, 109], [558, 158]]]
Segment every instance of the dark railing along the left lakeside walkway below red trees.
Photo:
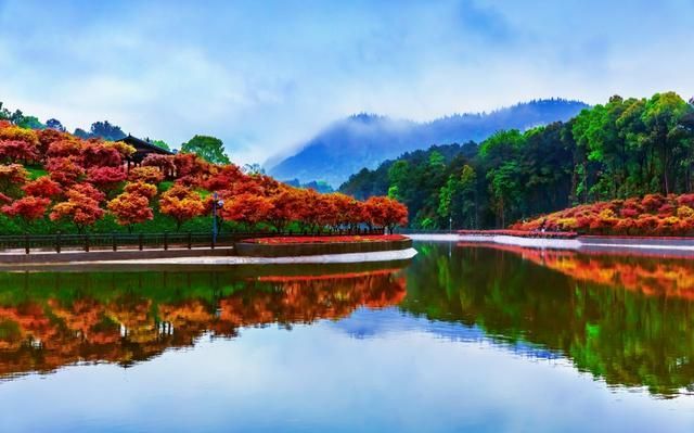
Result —
[[303, 235], [347, 235], [383, 234], [375, 230], [331, 230], [304, 232], [224, 232], [213, 237], [200, 232], [165, 233], [86, 233], [86, 234], [23, 234], [0, 235], [0, 252], [30, 254], [31, 251], [120, 251], [120, 250], [170, 250], [170, 249], [216, 249], [230, 247], [234, 243], [252, 238], [303, 237]]

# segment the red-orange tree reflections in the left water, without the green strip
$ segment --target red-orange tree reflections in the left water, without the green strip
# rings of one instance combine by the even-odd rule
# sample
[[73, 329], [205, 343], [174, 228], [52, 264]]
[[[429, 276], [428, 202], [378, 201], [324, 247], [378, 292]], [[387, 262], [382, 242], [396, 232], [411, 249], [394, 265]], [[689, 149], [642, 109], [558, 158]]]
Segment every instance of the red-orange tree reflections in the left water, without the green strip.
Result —
[[128, 365], [191, 345], [207, 331], [235, 336], [241, 327], [310, 323], [396, 305], [406, 284], [395, 271], [260, 278], [217, 305], [200, 298], [154, 305], [128, 294], [107, 304], [82, 297], [0, 306], [0, 328], [12, 330], [0, 333], [0, 377], [78, 361]]

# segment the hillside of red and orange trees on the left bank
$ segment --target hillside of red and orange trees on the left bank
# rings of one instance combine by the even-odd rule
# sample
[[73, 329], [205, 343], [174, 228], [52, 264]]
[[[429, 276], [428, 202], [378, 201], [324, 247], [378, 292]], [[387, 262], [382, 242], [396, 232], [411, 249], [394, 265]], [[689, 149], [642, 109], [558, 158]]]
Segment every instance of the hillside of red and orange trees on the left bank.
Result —
[[221, 140], [195, 136], [171, 155], [130, 164], [136, 149], [61, 128], [0, 120], [0, 233], [310, 231], [407, 224], [396, 200], [363, 202], [295, 188], [229, 163]]

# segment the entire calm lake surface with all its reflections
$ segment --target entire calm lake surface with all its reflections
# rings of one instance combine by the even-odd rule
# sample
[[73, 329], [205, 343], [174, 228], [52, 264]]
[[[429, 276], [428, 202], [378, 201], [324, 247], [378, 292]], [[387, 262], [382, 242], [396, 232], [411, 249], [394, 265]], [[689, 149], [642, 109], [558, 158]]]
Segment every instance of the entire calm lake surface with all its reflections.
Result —
[[415, 246], [0, 273], [0, 431], [694, 430], [694, 259]]

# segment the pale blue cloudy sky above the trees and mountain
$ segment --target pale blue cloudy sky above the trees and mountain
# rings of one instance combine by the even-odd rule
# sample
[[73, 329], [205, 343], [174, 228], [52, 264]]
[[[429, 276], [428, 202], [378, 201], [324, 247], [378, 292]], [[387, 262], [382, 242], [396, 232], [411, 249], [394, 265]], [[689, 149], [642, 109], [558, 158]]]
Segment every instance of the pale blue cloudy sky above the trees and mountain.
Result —
[[0, 0], [0, 101], [266, 157], [359, 112], [694, 94], [694, 0]]

